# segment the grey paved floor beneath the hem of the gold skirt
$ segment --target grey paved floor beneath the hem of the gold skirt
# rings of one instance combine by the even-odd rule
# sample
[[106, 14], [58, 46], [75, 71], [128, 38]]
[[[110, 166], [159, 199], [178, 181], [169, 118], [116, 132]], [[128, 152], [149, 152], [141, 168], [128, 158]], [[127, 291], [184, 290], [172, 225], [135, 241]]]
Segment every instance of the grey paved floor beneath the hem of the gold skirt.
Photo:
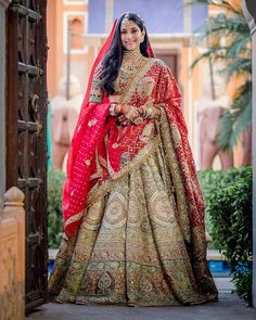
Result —
[[256, 309], [231, 293], [227, 278], [215, 279], [219, 302], [192, 307], [121, 307], [48, 304], [27, 316], [27, 320], [256, 320]]

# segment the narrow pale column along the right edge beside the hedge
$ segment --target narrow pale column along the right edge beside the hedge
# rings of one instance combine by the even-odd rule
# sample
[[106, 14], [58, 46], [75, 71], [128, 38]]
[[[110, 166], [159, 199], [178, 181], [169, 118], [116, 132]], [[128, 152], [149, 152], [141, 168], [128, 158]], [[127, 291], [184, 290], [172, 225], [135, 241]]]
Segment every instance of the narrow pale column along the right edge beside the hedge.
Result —
[[244, 16], [252, 34], [253, 62], [253, 305], [256, 308], [256, 3], [242, 0]]

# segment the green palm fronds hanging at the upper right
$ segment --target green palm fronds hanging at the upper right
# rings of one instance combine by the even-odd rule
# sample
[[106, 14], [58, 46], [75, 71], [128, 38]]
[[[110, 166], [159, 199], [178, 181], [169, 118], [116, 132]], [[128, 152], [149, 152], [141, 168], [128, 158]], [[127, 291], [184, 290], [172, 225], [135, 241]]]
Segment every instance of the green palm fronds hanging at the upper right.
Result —
[[[222, 73], [229, 82], [233, 77], [243, 76], [243, 84], [236, 90], [229, 112], [221, 118], [217, 143], [222, 150], [233, 149], [243, 133], [252, 125], [252, 54], [251, 33], [242, 9], [235, 8], [228, 0], [192, 0], [191, 4], [216, 5], [225, 9], [217, 16], [209, 17], [200, 28], [200, 41], [205, 39], [226, 39], [207, 41], [207, 51], [192, 64], [208, 59], [209, 64], [222, 62]], [[225, 44], [223, 44], [225, 43]], [[252, 135], [251, 135], [252, 137]], [[248, 143], [249, 144], [249, 143]], [[251, 144], [247, 145], [251, 148]]]

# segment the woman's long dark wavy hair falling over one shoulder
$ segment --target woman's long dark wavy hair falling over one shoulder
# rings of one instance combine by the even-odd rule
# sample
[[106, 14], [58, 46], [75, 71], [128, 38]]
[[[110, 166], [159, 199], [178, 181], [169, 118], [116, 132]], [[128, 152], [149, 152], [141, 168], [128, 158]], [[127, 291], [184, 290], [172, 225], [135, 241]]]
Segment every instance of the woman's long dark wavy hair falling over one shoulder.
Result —
[[102, 67], [101, 67], [101, 86], [102, 89], [108, 93], [113, 94], [115, 92], [114, 89], [114, 81], [117, 78], [118, 71], [121, 65], [123, 55], [124, 55], [124, 48], [121, 46], [121, 39], [120, 39], [120, 25], [123, 20], [127, 17], [129, 21], [132, 21], [138, 25], [141, 31], [144, 30], [144, 41], [140, 44], [140, 51], [141, 54], [144, 56], [149, 56], [149, 53], [146, 52], [148, 43], [149, 43], [149, 37], [146, 34], [146, 29], [144, 27], [143, 21], [140, 16], [138, 16], [136, 13], [124, 13], [117, 24], [115, 34], [113, 36], [113, 40], [111, 43], [110, 50], [105, 53], [103, 60], [102, 60]]

